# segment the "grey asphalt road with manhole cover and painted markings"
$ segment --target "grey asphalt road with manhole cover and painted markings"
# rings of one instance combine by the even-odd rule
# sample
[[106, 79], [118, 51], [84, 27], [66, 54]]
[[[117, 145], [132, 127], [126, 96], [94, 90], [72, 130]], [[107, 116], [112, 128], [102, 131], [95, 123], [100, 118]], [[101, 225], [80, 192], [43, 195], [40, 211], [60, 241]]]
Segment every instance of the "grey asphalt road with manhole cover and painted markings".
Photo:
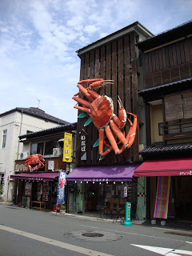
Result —
[[192, 232], [0, 204], [0, 256], [159, 254], [192, 255]]

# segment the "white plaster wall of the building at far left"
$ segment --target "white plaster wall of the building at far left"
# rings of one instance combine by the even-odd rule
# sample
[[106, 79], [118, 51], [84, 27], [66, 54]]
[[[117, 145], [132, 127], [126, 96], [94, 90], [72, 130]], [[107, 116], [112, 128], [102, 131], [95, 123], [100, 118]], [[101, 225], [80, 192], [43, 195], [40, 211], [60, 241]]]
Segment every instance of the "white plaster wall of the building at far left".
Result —
[[[0, 118], [0, 173], [5, 175], [5, 186], [2, 197], [5, 201], [12, 201], [14, 182], [10, 182], [10, 175], [14, 174], [14, 161], [23, 151], [18, 136], [26, 134], [27, 130], [38, 131], [58, 126], [54, 122], [45, 122], [29, 114], [14, 112]], [[3, 130], [7, 130], [6, 147], [2, 149]], [[26, 150], [25, 150], [26, 151]]]

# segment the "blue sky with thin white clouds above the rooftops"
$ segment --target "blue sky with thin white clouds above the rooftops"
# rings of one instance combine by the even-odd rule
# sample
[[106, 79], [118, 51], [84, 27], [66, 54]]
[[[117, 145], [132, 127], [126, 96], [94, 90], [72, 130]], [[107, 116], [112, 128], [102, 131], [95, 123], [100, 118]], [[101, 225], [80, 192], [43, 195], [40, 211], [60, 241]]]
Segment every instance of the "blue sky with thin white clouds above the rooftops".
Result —
[[39, 99], [47, 114], [76, 122], [76, 50], [136, 21], [158, 34], [191, 14], [191, 0], [0, 0], [0, 113]]

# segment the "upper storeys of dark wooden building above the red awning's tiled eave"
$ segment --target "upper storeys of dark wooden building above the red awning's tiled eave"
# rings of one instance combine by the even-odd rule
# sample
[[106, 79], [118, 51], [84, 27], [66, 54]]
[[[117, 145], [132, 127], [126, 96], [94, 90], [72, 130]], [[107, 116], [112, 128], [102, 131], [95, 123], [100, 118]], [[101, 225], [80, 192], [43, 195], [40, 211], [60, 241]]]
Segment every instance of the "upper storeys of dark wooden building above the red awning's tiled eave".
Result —
[[[159, 142], [165, 144], [192, 141], [191, 29], [192, 22], [187, 22], [138, 43], [143, 52], [145, 74], [144, 90], [139, 94], [147, 103], [148, 121], [153, 107], [162, 106], [162, 139]], [[157, 142], [147, 130], [147, 144]]]

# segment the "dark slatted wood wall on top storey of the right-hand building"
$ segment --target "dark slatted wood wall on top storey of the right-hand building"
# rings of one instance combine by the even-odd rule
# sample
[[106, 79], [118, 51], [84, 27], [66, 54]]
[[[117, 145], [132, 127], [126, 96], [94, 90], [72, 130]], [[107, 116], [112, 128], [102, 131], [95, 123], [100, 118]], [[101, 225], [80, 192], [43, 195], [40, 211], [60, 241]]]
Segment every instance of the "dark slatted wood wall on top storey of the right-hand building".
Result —
[[146, 88], [192, 77], [192, 38], [144, 54]]

